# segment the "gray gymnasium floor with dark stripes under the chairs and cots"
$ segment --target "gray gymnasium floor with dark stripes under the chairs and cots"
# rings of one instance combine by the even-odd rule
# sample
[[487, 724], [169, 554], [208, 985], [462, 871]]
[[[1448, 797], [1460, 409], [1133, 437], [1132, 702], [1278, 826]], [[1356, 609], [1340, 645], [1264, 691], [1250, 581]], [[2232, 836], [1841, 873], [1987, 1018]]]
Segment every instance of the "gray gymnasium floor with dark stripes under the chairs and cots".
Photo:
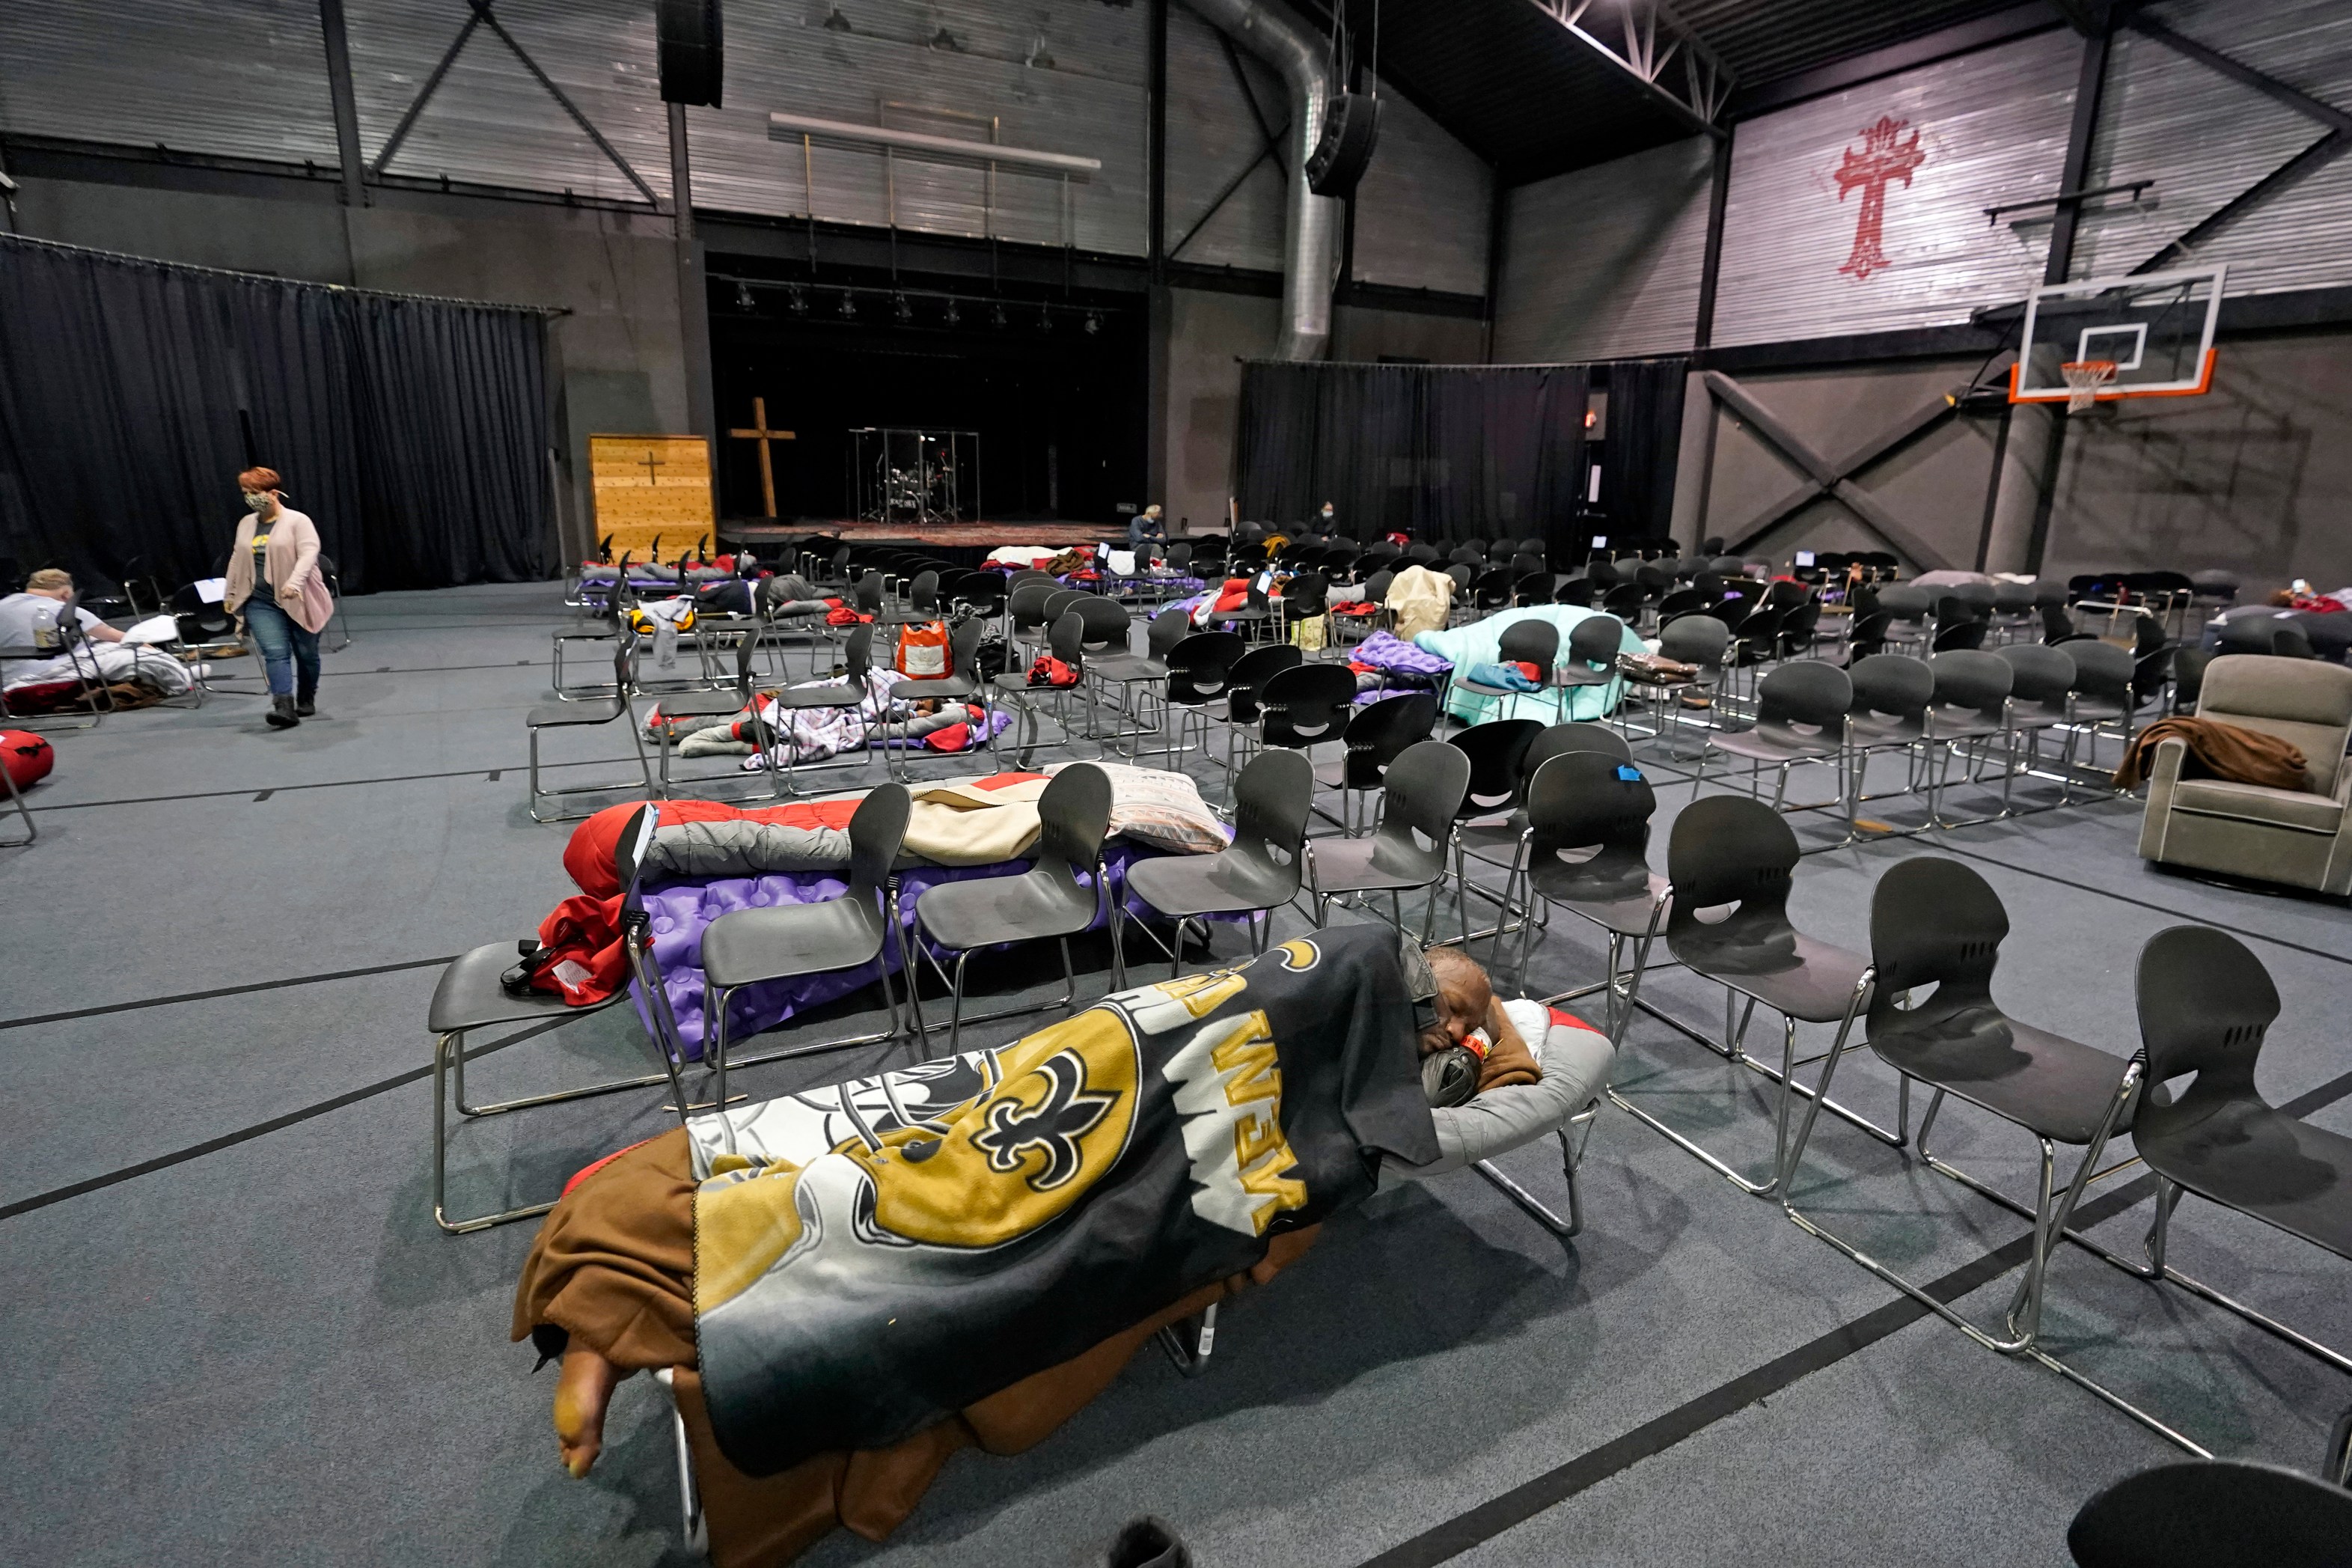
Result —
[[[534, 1378], [506, 1338], [532, 1227], [442, 1237], [428, 1215], [423, 1013], [440, 966], [527, 936], [572, 891], [567, 830], [522, 802], [522, 710], [546, 698], [548, 632], [569, 611], [553, 585], [522, 585], [379, 595], [348, 616], [318, 719], [273, 733], [259, 698], [221, 696], [54, 736], [42, 839], [0, 851], [0, 1556], [694, 1561], [659, 1389], [623, 1385], [595, 1474], [564, 1479], [553, 1373]], [[609, 776], [628, 748], [609, 731], [553, 755]], [[1663, 865], [1689, 785], [1653, 778]], [[2107, 802], [1825, 851], [1792, 907], [1816, 936], [1865, 945], [1879, 872], [1962, 856], [2009, 905], [2004, 1004], [2117, 1053], [2138, 1039], [2140, 943], [2183, 919], [2232, 929], [2286, 1004], [2260, 1088], [2352, 1131], [2343, 905], [2152, 872], [2136, 825], [2138, 806]], [[1599, 945], [1573, 924], [1538, 945], [1536, 994], [1597, 973]], [[1016, 978], [1044, 994], [1042, 971]], [[1103, 973], [1082, 983], [1098, 994]], [[1722, 1016], [1719, 992], [1672, 971], [1649, 997], [1700, 1025]], [[746, 1086], [882, 1056], [764, 1067]], [[642, 1060], [619, 1009], [475, 1077], [503, 1093]], [[1635, 1025], [1616, 1081], [1752, 1173], [1769, 1157], [1762, 1079], [1663, 1025]], [[1893, 1110], [1867, 1056], [1839, 1091]], [[452, 1197], [553, 1192], [661, 1126], [647, 1093], [466, 1128]], [[1947, 1107], [1940, 1140], [2030, 1190], [2023, 1133]], [[1559, 1197], [1543, 1147], [1505, 1166]], [[1797, 1197], [1983, 1319], [2016, 1284], [2023, 1220], [1832, 1119]], [[2110, 1246], [2136, 1248], [2143, 1173], [2100, 1182], [2086, 1208]], [[802, 1561], [1080, 1566], [1157, 1512], [1204, 1566], [2063, 1563], [2084, 1497], [2173, 1455], [1613, 1107], [1585, 1159], [1585, 1213], [1562, 1246], [1470, 1173], [1385, 1192], [1225, 1312], [1204, 1375], [1145, 1352], [1035, 1450], [957, 1455], [891, 1542], [835, 1533]], [[2345, 1265], [2197, 1201], [2173, 1246], [2187, 1272], [2352, 1345]], [[2049, 1333], [2225, 1455], [2312, 1469], [2352, 1406], [2352, 1380], [2079, 1248], [2053, 1265]]]

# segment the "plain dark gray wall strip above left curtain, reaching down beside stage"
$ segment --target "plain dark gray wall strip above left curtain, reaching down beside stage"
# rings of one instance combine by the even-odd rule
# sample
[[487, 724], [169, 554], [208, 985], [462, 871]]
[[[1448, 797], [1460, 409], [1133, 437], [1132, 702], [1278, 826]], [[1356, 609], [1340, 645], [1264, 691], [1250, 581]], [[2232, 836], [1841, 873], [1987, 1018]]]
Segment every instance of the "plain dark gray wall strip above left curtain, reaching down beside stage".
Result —
[[[136, 186], [21, 181], [19, 230], [96, 249], [339, 282], [360, 289], [560, 306], [569, 505], [564, 550], [588, 515], [588, 435], [684, 430], [677, 273], [668, 219], [513, 202], [440, 212], [280, 202]], [[470, 209], [475, 216], [449, 216]]]

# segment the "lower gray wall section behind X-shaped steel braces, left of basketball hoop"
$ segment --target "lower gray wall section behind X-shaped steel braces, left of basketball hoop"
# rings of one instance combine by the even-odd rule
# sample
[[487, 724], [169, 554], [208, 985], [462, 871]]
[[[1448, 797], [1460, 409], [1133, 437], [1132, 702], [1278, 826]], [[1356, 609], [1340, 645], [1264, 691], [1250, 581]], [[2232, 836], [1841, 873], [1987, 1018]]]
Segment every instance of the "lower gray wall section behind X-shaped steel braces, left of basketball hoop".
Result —
[[[1907, 360], [1835, 369], [1740, 374], [1736, 381], [1790, 425], [1813, 451], [1837, 461], [1919, 404], [1966, 386], [1978, 360]], [[1889, 454], [1860, 475], [1886, 510], [1912, 529], [1938, 559], [1907, 559], [1912, 569], [1976, 564], [1992, 484], [1999, 416], [1955, 416]], [[1785, 496], [1802, 473], [1731, 409], [1715, 411], [1715, 454], [1700, 491], [1700, 527], [1689, 538], [1736, 534], [1769, 501]], [[1689, 473], [1684, 475], [1689, 484]], [[1788, 562], [1797, 550], [1889, 550], [1853, 512], [1813, 501], [1776, 527], [1745, 555]]]

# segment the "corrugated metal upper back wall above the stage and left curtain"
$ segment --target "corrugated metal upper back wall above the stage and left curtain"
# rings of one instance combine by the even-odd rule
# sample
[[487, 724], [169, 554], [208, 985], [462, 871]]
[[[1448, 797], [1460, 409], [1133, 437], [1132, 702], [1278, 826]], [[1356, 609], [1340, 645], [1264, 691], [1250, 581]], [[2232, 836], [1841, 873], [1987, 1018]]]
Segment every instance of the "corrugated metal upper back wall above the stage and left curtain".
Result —
[[[360, 148], [383, 153], [419, 85], [459, 35], [452, 0], [346, 0]], [[503, 0], [496, 12], [661, 200], [670, 197], [654, 7], [644, 0]], [[842, 26], [826, 26], [840, 16]], [[694, 202], [941, 235], [1141, 256], [1148, 249], [1148, 7], [1101, 0], [776, 0], [727, 16], [727, 106], [689, 108]], [[242, 87], [268, 61], [268, 96]], [[1247, 52], [1268, 120], [1287, 103]], [[894, 125], [1101, 160], [1051, 174], [938, 162], [847, 141], [771, 141], [769, 110]], [[54, 0], [0, 7], [0, 129], [167, 143], [270, 162], [336, 165], [313, 0]], [[1258, 150], [1261, 134], [1216, 31], [1169, 7], [1171, 242]], [[487, 28], [456, 54], [388, 174], [640, 202]], [[1357, 202], [1357, 275], [1456, 294], [1486, 289], [1486, 165], [1388, 96]], [[1183, 259], [1279, 270], [1284, 176], [1261, 165]]]

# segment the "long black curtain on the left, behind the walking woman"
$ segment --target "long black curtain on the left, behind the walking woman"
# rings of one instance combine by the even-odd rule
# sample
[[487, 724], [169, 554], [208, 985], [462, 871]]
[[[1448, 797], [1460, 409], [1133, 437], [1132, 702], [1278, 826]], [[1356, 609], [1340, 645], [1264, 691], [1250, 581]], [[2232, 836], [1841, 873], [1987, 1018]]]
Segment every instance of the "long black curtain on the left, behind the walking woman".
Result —
[[82, 590], [214, 576], [285, 477], [346, 592], [553, 576], [534, 310], [0, 235], [0, 555]]

